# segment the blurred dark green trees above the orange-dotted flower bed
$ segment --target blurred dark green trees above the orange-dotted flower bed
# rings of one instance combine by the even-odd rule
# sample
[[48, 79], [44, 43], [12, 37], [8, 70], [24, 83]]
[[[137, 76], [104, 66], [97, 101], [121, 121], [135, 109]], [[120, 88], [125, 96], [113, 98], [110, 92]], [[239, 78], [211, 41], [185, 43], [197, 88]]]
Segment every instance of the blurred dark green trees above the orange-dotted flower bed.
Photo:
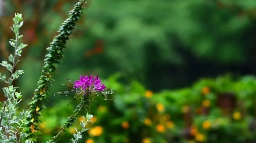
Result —
[[[29, 48], [21, 66], [31, 85], [22, 88], [35, 89], [45, 49], [75, 2], [5, 1], [0, 59], [9, 54], [13, 13], [23, 13], [27, 21], [21, 33]], [[78, 73], [108, 77], [122, 72], [123, 81], [140, 80], [159, 91], [187, 86], [202, 76], [255, 73], [255, 17], [251, 0], [89, 1], [56, 81]]]

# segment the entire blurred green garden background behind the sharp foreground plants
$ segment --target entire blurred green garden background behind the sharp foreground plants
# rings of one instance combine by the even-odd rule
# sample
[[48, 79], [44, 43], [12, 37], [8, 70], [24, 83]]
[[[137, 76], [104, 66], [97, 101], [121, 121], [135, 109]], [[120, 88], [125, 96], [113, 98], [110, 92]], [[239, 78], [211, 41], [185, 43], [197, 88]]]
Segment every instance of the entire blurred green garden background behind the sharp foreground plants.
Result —
[[[24, 74], [13, 83], [24, 97], [21, 108], [76, 2], [0, 0], [0, 61], [13, 51], [14, 13], [24, 17], [28, 47], [16, 67]], [[57, 67], [38, 142], [49, 140], [75, 106], [53, 94], [69, 90], [60, 85], [70, 84], [64, 77], [81, 74], [99, 75], [118, 91], [109, 96], [116, 103], [88, 111], [96, 122], [81, 142], [256, 142], [256, 80], [247, 76], [256, 72], [255, 32], [254, 0], [89, 0]]]

